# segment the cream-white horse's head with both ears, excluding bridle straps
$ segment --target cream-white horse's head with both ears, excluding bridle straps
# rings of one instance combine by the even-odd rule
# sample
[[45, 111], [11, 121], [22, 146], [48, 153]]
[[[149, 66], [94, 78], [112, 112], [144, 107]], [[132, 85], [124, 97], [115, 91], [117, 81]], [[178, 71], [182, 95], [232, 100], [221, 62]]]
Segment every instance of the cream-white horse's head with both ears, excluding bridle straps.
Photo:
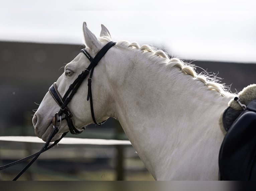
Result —
[[[84, 49], [91, 57], [95, 55], [111, 41], [111, 36], [108, 29], [102, 25], [100, 38], [97, 38], [87, 27], [86, 22], [83, 24], [83, 32], [85, 37], [86, 48]], [[110, 91], [112, 90], [110, 83], [108, 83], [108, 75], [106, 72], [109, 66], [114, 62], [112, 59], [113, 50], [109, 50], [107, 54], [99, 61], [97, 67], [93, 72], [92, 77], [92, 95], [93, 95], [93, 108], [96, 121], [104, 121], [111, 116], [111, 110], [107, 108], [108, 104], [113, 102]], [[58, 78], [55, 83], [55, 89], [62, 98], [68, 91], [70, 85], [78, 78], [85, 69], [88, 68], [91, 61], [85, 54], [80, 53], [78, 56], [65, 66], [65, 71]], [[107, 67], [108, 66], [108, 67]], [[89, 78], [89, 77], [87, 77]], [[86, 80], [81, 84], [74, 97], [68, 104], [69, 111], [72, 113], [72, 121], [77, 129], [93, 123], [90, 101], [87, 100], [88, 85]], [[32, 119], [35, 128], [35, 134], [46, 141], [52, 131], [52, 118], [56, 112], [60, 110], [60, 106], [54, 100], [50, 92], [47, 92], [42, 102], [40, 103], [37, 111]], [[61, 115], [57, 117], [58, 121]], [[68, 121], [68, 120], [67, 120]], [[51, 141], [58, 139], [62, 133], [69, 131], [68, 122], [62, 119], [59, 124], [59, 132], [53, 137]]]

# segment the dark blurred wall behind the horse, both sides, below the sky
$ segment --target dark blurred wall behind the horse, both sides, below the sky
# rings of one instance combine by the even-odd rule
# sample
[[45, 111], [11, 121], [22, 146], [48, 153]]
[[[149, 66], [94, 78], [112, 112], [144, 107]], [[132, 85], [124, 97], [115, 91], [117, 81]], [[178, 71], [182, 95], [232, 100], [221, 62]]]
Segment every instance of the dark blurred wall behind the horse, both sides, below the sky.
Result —
[[[50, 85], [63, 72], [83, 46], [0, 42], [0, 129], [22, 125], [32, 109], [38, 106]], [[195, 61], [193, 64], [208, 72], [219, 73], [232, 92], [255, 83], [255, 64]], [[201, 72], [198, 69], [198, 72]], [[32, 116], [28, 119], [31, 122]], [[31, 122], [32, 125], [32, 122]]]

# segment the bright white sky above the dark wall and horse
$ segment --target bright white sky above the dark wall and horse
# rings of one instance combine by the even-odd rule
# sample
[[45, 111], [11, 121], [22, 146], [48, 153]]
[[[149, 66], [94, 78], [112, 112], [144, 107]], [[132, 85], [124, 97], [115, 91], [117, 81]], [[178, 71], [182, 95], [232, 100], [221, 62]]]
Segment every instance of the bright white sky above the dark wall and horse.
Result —
[[256, 63], [254, 0], [0, 0], [0, 41], [81, 45], [83, 22], [113, 41], [164, 48], [186, 61]]

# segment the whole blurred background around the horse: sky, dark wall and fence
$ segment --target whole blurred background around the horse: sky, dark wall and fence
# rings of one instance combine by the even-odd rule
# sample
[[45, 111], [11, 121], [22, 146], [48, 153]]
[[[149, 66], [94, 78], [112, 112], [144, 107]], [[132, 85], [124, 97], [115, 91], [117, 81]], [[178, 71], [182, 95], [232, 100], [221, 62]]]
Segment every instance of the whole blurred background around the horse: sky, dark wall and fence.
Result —
[[[60, 68], [83, 48], [84, 21], [96, 36], [104, 24], [113, 41], [150, 44], [198, 66], [198, 73], [217, 75], [231, 92], [241, 91], [256, 80], [254, 7], [253, 1], [238, 0], [1, 2], [0, 136], [34, 136], [32, 110], [62, 74]], [[114, 119], [67, 136], [128, 140]], [[42, 146], [0, 141], [0, 166]], [[0, 171], [0, 180], [11, 180], [23, 166]], [[132, 146], [61, 144], [41, 154], [20, 180], [153, 177]]]

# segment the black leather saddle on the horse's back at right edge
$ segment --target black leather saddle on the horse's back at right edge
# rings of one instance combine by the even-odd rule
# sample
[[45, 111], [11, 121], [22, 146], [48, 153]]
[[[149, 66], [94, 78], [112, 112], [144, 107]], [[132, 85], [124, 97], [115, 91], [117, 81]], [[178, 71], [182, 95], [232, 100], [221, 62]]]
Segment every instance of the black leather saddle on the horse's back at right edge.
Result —
[[228, 107], [223, 114], [227, 131], [219, 153], [221, 180], [256, 180], [256, 99], [245, 110]]

